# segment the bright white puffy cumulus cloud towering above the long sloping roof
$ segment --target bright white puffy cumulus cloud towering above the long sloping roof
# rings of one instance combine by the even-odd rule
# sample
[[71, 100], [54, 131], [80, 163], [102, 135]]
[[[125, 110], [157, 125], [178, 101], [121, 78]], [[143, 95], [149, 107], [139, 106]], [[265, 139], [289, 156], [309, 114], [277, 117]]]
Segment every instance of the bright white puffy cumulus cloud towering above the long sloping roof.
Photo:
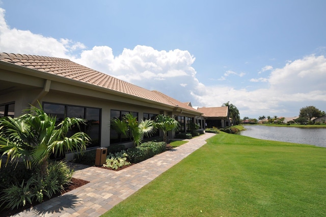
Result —
[[[196, 70], [192, 67], [195, 58], [188, 51], [179, 49], [157, 51], [150, 46], [137, 45], [114, 56], [111, 47], [95, 46], [92, 50], [83, 51], [74, 61], [184, 101], [192, 100], [188, 88], [199, 85]], [[187, 89], [182, 88], [181, 91], [180, 88], [185, 86]]]

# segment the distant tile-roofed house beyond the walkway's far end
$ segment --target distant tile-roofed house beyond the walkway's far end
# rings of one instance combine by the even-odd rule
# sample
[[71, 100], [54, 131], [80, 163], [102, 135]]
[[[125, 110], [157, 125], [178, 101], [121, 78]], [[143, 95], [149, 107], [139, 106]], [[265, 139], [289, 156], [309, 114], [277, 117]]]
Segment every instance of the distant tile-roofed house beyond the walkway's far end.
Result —
[[200, 126], [207, 124], [208, 128], [224, 128], [231, 126], [231, 118], [229, 115], [229, 107], [198, 107], [197, 111], [203, 113], [197, 118], [197, 123]]

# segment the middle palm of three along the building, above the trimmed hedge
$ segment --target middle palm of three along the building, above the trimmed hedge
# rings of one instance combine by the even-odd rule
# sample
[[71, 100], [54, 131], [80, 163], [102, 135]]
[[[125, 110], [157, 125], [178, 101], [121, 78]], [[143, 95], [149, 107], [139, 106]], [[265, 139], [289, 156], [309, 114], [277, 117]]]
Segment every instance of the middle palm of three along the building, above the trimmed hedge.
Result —
[[133, 146], [141, 144], [144, 135], [150, 135], [155, 131], [153, 120], [141, 120], [128, 113], [123, 115], [122, 120], [113, 118], [111, 127], [118, 133], [128, 136], [133, 141]]

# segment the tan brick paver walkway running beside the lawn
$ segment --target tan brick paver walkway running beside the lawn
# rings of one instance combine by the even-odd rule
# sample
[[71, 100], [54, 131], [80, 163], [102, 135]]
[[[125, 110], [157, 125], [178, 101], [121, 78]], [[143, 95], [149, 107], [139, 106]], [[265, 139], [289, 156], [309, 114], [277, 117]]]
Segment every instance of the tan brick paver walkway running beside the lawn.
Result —
[[132, 195], [206, 143], [214, 134], [205, 133], [180, 147], [156, 155], [121, 171], [74, 164], [73, 177], [89, 181], [66, 194], [43, 202], [14, 216], [100, 216]]

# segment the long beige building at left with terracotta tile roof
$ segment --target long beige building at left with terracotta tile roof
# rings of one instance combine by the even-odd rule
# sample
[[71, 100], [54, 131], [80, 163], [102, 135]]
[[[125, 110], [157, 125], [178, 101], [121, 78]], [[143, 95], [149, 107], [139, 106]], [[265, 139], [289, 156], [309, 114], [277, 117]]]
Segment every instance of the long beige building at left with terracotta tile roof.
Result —
[[[140, 119], [157, 114], [174, 117], [185, 132], [201, 111], [164, 93], [133, 85], [69, 59], [0, 53], [0, 115], [19, 116], [30, 105], [60, 121], [65, 117], [87, 120], [84, 131], [89, 147], [108, 147], [130, 140], [110, 129], [110, 120], [132, 113]], [[170, 133], [169, 137], [174, 137]]]

